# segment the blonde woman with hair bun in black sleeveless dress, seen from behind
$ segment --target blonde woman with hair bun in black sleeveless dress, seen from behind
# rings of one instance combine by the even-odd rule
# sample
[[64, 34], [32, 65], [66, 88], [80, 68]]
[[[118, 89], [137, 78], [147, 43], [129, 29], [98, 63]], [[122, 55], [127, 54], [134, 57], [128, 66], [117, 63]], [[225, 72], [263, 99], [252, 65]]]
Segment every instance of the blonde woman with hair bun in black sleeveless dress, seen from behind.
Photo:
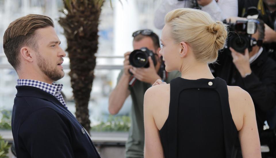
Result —
[[224, 48], [227, 26], [189, 8], [170, 11], [165, 23], [159, 53], [166, 71], [178, 70], [182, 78], [145, 93], [145, 157], [231, 158], [239, 138], [244, 158], [260, 158], [250, 95], [213, 79], [208, 66]]

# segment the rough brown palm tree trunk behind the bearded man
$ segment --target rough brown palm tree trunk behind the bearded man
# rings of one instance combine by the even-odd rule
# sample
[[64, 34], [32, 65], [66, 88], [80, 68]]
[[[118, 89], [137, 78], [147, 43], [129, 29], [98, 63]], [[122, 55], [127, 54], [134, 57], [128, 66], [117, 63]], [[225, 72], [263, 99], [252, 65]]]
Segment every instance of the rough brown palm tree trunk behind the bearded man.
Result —
[[[63, 0], [64, 28], [70, 59], [70, 77], [76, 103], [76, 118], [90, 130], [88, 102], [94, 80], [95, 53], [98, 49], [98, 24], [104, 0]], [[68, 13], [67, 13], [68, 12]]]

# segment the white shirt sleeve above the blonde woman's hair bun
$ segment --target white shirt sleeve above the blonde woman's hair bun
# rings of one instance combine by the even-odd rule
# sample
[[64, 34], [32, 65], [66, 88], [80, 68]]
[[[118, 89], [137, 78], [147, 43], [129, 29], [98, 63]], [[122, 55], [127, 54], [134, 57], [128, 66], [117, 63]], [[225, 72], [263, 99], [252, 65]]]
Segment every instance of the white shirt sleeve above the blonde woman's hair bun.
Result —
[[208, 5], [202, 7], [203, 11], [206, 11], [215, 20], [225, 20], [232, 16], [238, 16], [238, 1], [237, 0], [213, 0]]

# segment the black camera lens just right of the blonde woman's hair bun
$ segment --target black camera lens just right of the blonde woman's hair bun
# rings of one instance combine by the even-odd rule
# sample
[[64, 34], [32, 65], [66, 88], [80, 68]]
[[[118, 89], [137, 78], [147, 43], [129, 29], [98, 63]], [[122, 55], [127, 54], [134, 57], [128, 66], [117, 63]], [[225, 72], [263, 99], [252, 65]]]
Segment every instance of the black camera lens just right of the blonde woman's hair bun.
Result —
[[248, 37], [244, 35], [234, 36], [230, 40], [230, 46], [237, 52], [244, 52], [244, 50], [249, 46]]

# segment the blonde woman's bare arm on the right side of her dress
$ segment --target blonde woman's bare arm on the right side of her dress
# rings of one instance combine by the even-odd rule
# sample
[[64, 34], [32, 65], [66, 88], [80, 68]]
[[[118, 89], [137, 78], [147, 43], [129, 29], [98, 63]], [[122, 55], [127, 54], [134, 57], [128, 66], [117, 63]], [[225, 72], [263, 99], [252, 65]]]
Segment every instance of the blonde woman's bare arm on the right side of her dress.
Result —
[[241, 108], [244, 109], [243, 126], [239, 131], [243, 158], [261, 158], [260, 139], [254, 104], [250, 95], [242, 90]]

